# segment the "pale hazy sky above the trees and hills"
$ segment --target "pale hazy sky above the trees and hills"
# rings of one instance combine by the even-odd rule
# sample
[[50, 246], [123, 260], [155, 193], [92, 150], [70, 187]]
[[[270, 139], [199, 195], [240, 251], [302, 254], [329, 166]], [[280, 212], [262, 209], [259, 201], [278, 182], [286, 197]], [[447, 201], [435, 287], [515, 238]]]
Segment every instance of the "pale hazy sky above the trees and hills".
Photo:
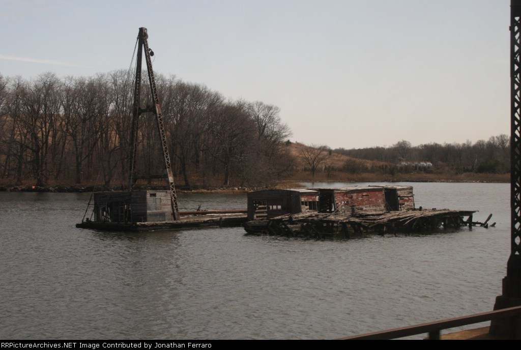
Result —
[[510, 134], [509, 0], [0, 0], [0, 73], [128, 69], [279, 106], [332, 148]]

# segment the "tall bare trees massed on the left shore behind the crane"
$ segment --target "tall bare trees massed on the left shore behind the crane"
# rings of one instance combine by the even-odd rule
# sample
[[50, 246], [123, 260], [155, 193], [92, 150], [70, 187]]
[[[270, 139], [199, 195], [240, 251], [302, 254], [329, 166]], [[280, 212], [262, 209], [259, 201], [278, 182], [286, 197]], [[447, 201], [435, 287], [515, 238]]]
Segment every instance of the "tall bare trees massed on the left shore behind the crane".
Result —
[[[156, 82], [172, 170], [184, 186], [264, 185], [291, 171], [285, 145], [291, 130], [277, 106], [232, 101], [161, 74]], [[147, 89], [142, 106], [150, 104]], [[31, 80], [0, 74], [0, 179], [126, 184], [132, 102], [133, 77], [126, 71], [63, 79], [44, 73]], [[151, 182], [162, 170], [155, 117], [142, 114], [138, 176]]]

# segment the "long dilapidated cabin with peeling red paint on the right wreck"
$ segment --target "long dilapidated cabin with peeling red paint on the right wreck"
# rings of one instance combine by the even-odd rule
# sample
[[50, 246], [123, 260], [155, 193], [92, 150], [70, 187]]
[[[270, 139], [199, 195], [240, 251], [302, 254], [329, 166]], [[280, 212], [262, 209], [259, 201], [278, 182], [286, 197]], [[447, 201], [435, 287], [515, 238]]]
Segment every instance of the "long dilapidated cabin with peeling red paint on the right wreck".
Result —
[[247, 194], [248, 219], [260, 220], [304, 209], [371, 214], [414, 209], [412, 186], [351, 186], [331, 189], [262, 190]]

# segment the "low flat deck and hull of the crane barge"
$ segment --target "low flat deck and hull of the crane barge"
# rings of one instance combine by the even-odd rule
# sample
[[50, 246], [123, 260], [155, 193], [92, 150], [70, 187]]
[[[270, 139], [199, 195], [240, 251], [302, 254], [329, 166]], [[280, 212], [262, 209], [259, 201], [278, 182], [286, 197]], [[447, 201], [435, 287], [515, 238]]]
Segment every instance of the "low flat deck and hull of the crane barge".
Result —
[[146, 232], [157, 230], [185, 230], [212, 227], [241, 227], [247, 221], [246, 214], [206, 215], [204, 217], [182, 217], [169, 222], [103, 222], [83, 221], [76, 227], [100, 231]]

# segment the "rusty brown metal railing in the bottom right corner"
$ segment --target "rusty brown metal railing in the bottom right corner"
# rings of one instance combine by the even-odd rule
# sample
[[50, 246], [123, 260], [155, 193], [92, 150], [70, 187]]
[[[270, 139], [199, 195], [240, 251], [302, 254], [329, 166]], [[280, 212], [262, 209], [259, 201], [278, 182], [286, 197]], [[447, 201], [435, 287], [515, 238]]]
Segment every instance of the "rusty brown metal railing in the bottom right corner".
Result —
[[[486, 322], [501, 318], [517, 318], [521, 316], [521, 306], [510, 307], [507, 309], [488, 311], [486, 313], [474, 314], [463, 317], [449, 318], [446, 320], [417, 324], [386, 331], [371, 332], [360, 335], [347, 336], [339, 340], [385, 340], [403, 338], [404, 336], [427, 333], [429, 340], [439, 340], [441, 330], [466, 326], [467, 324]], [[514, 322], [514, 320], [513, 320]]]

